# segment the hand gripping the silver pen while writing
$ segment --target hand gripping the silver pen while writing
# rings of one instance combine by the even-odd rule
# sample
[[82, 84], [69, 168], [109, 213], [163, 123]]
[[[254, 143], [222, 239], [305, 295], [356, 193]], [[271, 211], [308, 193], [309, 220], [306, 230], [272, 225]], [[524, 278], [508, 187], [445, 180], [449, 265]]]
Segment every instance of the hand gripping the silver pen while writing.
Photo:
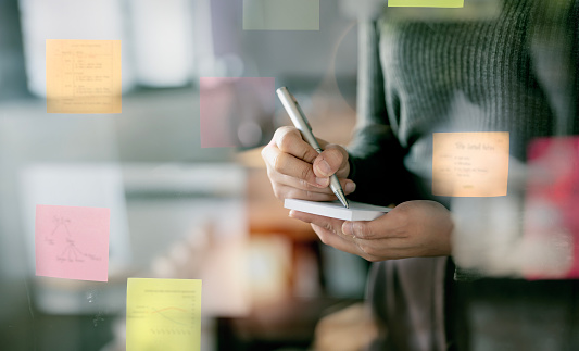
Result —
[[305, 142], [297, 128], [281, 127], [262, 150], [267, 176], [278, 199], [336, 200], [329, 188], [332, 174], [340, 179], [345, 195], [354, 191], [355, 184], [345, 179], [350, 174], [348, 152], [340, 146], [320, 139], [318, 142], [324, 149], [322, 153]]

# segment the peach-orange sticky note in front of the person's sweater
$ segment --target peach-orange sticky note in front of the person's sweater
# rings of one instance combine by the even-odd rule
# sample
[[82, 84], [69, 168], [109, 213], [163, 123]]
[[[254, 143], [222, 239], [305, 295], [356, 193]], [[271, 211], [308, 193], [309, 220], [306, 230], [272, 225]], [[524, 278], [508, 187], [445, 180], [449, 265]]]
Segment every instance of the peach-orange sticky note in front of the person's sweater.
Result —
[[508, 133], [435, 133], [432, 193], [446, 197], [506, 196]]

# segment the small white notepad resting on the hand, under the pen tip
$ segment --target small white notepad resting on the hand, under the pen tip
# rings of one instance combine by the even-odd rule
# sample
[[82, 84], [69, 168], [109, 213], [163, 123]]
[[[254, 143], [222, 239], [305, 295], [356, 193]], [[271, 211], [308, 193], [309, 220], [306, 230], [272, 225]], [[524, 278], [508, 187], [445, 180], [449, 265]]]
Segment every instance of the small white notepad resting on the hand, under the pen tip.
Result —
[[344, 208], [338, 200], [325, 202], [286, 199], [284, 206], [290, 210], [344, 221], [372, 221], [392, 210], [390, 208], [377, 206], [374, 204], [355, 201], [348, 201], [348, 203], [350, 204], [350, 209]]

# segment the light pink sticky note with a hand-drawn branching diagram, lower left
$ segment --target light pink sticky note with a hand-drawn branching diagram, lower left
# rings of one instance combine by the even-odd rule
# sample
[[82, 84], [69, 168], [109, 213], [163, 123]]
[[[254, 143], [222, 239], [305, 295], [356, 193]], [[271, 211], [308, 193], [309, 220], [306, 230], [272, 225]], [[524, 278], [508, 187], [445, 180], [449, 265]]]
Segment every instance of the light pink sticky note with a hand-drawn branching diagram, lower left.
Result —
[[106, 281], [110, 210], [36, 205], [36, 275]]

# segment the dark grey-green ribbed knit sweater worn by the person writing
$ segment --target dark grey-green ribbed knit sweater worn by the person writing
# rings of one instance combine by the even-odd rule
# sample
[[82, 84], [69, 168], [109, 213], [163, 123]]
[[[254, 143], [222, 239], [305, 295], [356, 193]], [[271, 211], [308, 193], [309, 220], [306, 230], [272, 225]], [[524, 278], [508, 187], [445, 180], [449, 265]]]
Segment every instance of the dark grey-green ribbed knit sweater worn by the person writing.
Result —
[[508, 131], [521, 161], [531, 138], [578, 134], [577, 3], [502, 5], [484, 21], [360, 25], [358, 122], [349, 149], [355, 198], [432, 198], [432, 133]]

